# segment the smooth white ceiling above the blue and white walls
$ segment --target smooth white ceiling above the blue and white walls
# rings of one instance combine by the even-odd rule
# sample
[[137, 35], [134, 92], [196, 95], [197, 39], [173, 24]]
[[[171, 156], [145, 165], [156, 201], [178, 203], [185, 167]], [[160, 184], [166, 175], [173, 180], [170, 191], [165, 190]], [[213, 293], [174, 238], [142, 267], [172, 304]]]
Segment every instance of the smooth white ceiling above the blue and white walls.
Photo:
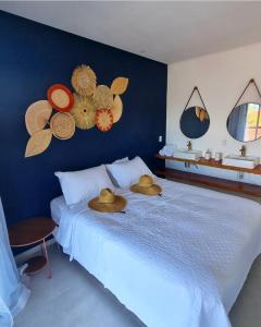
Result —
[[261, 2], [1, 1], [0, 9], [165, 63], [261, 41]]

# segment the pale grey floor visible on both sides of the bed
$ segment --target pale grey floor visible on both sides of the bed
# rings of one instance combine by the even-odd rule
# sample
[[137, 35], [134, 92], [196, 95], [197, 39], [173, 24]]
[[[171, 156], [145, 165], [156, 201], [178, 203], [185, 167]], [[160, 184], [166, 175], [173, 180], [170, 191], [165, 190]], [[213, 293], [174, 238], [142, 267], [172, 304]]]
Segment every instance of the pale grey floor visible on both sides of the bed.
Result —
[[[32, 277], [32, 296], [15, 327], [144, 326], [83, 267], [59, 253], [57, 245], [50, 246], [50, 256], [53, 277], [46, 279], [44, 270]], [[261, 326], [261, 256], [253, 264], [231, 318], [234, 327]]]

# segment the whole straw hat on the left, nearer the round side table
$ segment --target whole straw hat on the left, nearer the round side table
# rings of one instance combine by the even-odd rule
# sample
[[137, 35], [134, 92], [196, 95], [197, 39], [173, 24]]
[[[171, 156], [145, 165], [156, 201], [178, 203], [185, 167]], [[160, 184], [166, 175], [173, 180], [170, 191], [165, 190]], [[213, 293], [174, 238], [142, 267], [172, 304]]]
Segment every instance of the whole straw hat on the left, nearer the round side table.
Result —
[[100, 213], [119, 213], [122, 211], [127, 202], [124, 197], [115, 195], [111, 189], [103, 189], [100, 196], [92, 198], [88, 206], [89, 208]]

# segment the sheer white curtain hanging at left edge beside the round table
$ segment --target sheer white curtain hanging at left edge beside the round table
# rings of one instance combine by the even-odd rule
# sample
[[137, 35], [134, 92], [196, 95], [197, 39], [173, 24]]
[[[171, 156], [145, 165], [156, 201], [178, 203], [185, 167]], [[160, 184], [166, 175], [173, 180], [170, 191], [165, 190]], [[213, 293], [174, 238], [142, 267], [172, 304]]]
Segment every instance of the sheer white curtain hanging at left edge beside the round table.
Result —
[[13, 326], [13, 317], [23, 310], [29, 290], [21, 281], [12, 251], [0, 198], [0, 326]]

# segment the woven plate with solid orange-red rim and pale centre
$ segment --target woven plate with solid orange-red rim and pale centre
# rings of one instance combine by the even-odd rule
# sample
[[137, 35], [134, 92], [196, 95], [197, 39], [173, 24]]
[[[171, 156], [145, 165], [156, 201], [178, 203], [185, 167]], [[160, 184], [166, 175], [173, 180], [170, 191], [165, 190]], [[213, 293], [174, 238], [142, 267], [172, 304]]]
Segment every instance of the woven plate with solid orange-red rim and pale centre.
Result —
[[47, 97], [51, 106], [61, 112], [70, 111], [74, 104], [71, 90], [63, 84], [53, 84], [49, 87]]

